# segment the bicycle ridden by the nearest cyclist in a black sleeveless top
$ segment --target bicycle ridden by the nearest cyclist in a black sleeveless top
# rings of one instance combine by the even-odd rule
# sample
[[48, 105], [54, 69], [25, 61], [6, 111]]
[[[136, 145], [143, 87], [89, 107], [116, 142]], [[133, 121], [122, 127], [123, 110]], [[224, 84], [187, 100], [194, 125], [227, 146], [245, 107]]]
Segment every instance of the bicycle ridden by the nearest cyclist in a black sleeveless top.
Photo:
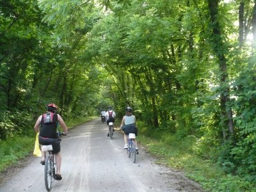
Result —
[[[58, 136], [66, 135], [65, 133], [58, 133]], [[60, 138], [49, 139], [49, 143], [58, 143], [61, 141]], [[56, 159], [55, 154], [52, 154], [52, 145], [42, 145], [42, 152], [48, 152], [45, 158], [44, 166], [44, 182], [47, 191], [51, 190], [52, 181], [56, 179]]]

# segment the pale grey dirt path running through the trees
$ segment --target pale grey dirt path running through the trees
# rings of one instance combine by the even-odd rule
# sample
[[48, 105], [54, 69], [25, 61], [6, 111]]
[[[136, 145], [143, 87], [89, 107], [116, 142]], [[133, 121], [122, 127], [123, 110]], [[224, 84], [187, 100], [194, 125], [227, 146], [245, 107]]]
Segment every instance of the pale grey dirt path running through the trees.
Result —
[[[61, 141], [62, 180], [54, 180], [51, 191], [203, 191], [181, 173], [155, 164], [140, 149], [137, 162], [127, 157], [124, 140], [115, 132], [107, 137], [107, 125], [92, 120], [72, 129]], [[40, 157], [29, 157], [1, 174], [0, 192], [46, 191]]]

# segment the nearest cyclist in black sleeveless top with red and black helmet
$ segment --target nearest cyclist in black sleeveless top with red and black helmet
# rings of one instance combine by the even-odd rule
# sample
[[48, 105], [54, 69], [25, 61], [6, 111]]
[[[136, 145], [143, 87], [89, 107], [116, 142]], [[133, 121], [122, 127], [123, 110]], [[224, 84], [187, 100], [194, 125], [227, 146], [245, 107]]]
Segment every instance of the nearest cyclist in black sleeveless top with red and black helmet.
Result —
[[[58, 122], [60, 123], [65, 135], [67, 135], [68, 128], [63, 118], [59, 114], [56, 113], [58, 106], [56, 104], [48, 104], [47, 105], [47, 113], [40, 115], [36, 120], [36, 124], [34, 126], [35, 132], [39, 132], [39, 143], [41, 145], [51, 145], [52, 144], [52, 154], [55, 154], [56, 158], [56, 180], [61, 180], [61, 153], [60, 153], [60, 139], [58, 139], [57, 134], [57, 127]], [[40, 127], [40, 130], [39, 130]], [[52, 139], [56, 139], [59, 141], [58, 143], [49, 143]], [[45, 164], [45, 154], [46, 152], [42, 153], [42, 161], [41, 164]]]

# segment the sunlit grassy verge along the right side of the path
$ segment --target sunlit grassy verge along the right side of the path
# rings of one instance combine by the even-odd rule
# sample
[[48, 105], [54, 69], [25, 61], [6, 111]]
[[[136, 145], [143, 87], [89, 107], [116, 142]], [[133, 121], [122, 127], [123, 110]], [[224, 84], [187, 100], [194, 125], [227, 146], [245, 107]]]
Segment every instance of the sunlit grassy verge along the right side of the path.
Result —
[[[180, 140], [168, 132], [157, 130], [150, 134], [143, 131], [137, 139], [147, 147], [150, 154], [157, 157], [158, 163], [185, 171], [187, 177], [198, 182], [207, 191], [253, 191], [256, 187], [243, 177], [225, 174], [223, 166], [219, 166], [215, 161], [209, 161], [209, 156], [202, 156], [200, 145], [204, 144], [195, 136]], [[205, 152], [208, 149], [208, 154], [218, 154], [218, 150], [214, 150], [211, 144], [205, 143], [204, 147]], [[227, 162], [225, 163], [227, 165]]]

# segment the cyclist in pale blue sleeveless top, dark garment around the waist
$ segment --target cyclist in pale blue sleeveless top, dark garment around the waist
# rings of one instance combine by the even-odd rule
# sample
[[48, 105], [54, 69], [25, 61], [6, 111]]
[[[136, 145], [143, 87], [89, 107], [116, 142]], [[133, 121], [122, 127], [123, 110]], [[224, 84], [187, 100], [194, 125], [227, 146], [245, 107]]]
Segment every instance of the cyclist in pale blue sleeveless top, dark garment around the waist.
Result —
[[[122, 119], [122, 123], [120, 125], [121, 129], [124, 131], [124, 149], [128, 148], [127, 144], [127, 136], [129, 133], [134, 133], [136, 136], [138, 135], [138, 129], [136, 127], [136, 118], [134, 115], [132, 115], [132, 108], [129, 106], [125, 109], [126, 114]], [[136, 150], [138, 150], [137, 147], [137, 141], [134, 140], [134, 145], [136, 147]]]

